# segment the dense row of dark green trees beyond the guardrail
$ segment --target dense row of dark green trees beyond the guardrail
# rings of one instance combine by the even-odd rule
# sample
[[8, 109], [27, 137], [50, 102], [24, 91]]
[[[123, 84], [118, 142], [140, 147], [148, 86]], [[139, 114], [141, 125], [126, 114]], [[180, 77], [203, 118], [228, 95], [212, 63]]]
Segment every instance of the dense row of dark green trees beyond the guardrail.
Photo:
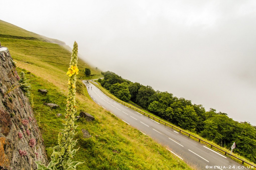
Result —
[[236, 142], [234, 152], [256, 162], [256, 126], [248, 122], [237, 122], [226, 113], [208, 111], [191, 100], [177, 98], [167, 91], [155, 91], [151, 86], [133, 83], [110, 72], [102, 72], [104, 79], [98, 82], [121, 100], [138, 104], [157, 116], [230, 149]]

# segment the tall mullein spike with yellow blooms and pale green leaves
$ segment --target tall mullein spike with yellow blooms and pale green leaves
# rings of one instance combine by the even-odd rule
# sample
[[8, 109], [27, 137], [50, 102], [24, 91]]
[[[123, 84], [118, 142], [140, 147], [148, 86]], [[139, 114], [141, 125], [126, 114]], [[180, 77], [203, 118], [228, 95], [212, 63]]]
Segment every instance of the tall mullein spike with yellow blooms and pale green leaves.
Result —
[[69, 76], [68, 80], [68, 95], [67, 95], [67, 108], [65, 115], [64, 129], [61, 129], [58, 135], [58, 145], [53, 147], [53, 153], [51, 155], [51, 162], [47, 167], [37, 163], [38, 170], [64, 170], [64, 169], [76, 169], [76, 166], [83, 162], [71, 162], [71, 159], [76, 154], [78, 149], [72, 148], [76, 145], [77, 141], [74, 141], [75, 129], [74, 125], [76, 110], [76, 75], [78, 74], [77, 68], [77, 53], [78, 45], [74, 42], [70, 67], [66, 75]]

